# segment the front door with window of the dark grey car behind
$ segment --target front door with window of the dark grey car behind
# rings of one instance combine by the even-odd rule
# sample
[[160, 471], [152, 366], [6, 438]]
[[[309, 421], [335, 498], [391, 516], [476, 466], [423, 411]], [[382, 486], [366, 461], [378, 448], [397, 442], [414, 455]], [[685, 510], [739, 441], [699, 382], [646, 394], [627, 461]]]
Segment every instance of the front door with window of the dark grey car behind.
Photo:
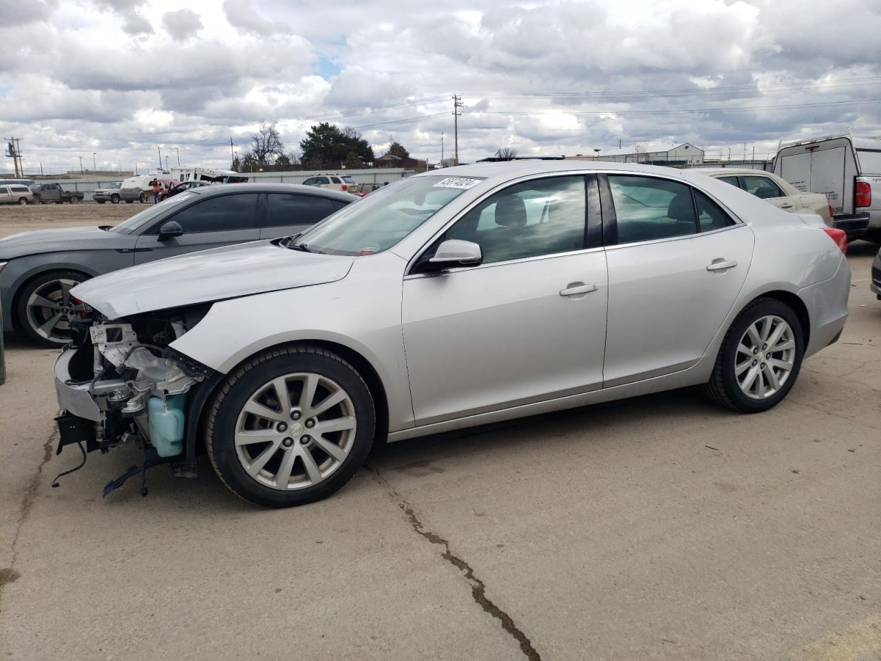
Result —
[[[163, 217], [137, 237], [135, 263], [256, 241], [260, 238], [255, 218], [259, 197], [259, 193], [198, 196], [194, 202], [172, 216]], [[159, 234], [159, 227], [169, 220], [180, 224], [181, 236], [165, 238]]]

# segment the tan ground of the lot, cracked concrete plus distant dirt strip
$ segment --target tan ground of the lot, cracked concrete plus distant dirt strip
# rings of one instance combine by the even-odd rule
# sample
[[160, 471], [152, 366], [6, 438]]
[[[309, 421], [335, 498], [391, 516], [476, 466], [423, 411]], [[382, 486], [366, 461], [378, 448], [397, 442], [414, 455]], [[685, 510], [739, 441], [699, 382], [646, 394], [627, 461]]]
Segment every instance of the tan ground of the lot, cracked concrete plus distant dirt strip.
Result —
[[[0, 234], [142, 208], [0, 208]], [[333, 498], [255, 509], [201, 464], [102, 500], [134, 448], [55, 456], [56, 351], [7, 338], [0, 657], [881, 658], [881, 301], [783, 404], [691, 390], [377, 451]]]

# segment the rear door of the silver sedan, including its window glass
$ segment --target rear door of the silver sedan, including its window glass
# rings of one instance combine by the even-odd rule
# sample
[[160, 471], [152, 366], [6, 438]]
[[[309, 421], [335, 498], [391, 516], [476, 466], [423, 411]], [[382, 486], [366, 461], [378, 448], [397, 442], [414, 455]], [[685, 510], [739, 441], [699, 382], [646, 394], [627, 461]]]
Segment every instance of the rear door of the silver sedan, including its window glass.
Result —
[[684, 182], [609, 174], [600, 192], [609, 266], [604, 386], [691, 367], [744, 284], [751, 228]]

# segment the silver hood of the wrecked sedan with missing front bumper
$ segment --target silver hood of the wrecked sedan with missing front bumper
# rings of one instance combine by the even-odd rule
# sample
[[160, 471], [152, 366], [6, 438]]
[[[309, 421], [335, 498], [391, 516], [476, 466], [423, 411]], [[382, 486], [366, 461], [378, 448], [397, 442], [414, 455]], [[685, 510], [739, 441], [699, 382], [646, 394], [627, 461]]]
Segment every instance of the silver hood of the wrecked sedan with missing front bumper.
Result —
[[70, 290], [111, 319], [343, 279], [352, 256], [317, 255], [269, 241], [202, 250], [132, 266]]

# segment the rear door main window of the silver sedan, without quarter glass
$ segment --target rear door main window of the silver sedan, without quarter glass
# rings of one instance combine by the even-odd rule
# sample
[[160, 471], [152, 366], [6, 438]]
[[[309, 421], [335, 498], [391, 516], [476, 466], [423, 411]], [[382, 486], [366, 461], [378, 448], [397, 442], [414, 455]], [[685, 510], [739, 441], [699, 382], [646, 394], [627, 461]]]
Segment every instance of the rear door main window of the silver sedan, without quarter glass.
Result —
[[655, 241], [697, 233], [692, 189], [652, 177], [609, 175], [618, 219], [618, 243]]

